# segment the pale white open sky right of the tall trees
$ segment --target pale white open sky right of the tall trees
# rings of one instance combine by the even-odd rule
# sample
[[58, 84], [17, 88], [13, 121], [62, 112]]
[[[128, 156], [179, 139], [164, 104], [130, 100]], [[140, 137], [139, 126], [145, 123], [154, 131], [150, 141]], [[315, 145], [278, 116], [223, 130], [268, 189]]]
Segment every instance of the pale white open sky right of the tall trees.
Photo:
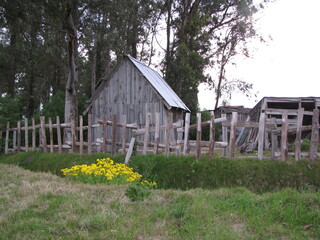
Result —
[[[257, 97], [239, 93], [230, 105], [253, 107], [263, 97], [320, 96], [320, 1], [277, 0], [259, 16], [257, 29], [271, 36], [250, 44], [251, 58], [238, 57], [232, 74], [253, 84]], [[214, 108], [214, 93], [199, 87], [201, 109]], [[221, 103], [221, 102], [220, 102]]]

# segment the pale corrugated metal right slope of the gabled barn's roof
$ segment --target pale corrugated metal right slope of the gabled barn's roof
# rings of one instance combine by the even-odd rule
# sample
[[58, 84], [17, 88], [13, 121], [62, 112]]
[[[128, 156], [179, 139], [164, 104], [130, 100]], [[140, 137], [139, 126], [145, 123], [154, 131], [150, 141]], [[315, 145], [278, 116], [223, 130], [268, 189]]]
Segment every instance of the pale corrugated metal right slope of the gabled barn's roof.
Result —
[[167, 102], [170, 107], [181, 108], [190, 112], [189, 108], [184, 104], [184, 102], [178, 97], [178, 95], [172, 90], [172, 88], [160, 76], [159, 73], [129, 55], [127, 55], [127, 57], [145, 76], [150, 84], [158, 91], [160, 96]]

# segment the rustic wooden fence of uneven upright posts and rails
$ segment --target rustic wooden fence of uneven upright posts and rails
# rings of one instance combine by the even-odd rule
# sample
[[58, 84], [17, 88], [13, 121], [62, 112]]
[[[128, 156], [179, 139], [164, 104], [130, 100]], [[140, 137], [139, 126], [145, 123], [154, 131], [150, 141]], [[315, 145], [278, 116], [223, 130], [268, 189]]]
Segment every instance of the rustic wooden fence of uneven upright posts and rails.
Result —
[[[303, 113], [302, 113], [303, 114]], [[301, 157], [308, 157], [310, 160], [315, 160], [319, 157], [317, 153], [317, 144], [319, 139], [319, 110], [313, 113], [313, 122], [310, 126], [302, 126], [301, 117], [296, 121], [288, 119], [288, 113], [283, 113], [283, 118], [277, 124], [266, 119], [265, 114], [261, 114], [260, 122], [238, 121], [238, 114], [232, 113], [231, 121], [227, 121], [225, 115], [220, 118], [215, 118], [211, 112], [210, 120], [202, 121], [201, 113], [197, 114], [197, 122], [190, 125], [190, 113], [186, 113], [185, 120], [173, 123], [172, 114], [169, 113], [168, 122], [166, 125], [160, 126], [160, 114], [156, 114], [154, 119], [155, 124], [151, 125], [151, 114], [146, 115], [146, 125], [143, 129], [138, 129], [135, 123], [126, 123], [126, 116], [122, 116], [122, 122], [118, 122], [118, 116], [112, 116], [111, 121], [107, 121], [105, 116], [98, 123], [92, 123], [92, 116], [88, 114], [88, 124], [84, 126], [83, 117], [80, 116], [78, 124], [74, 121], [71, 123], [60, 123], [59, 117], [56, 118], [56, 123], [52, 123], [52, 119], [40, 117], [40, 123], [35, 124], [35, 120], [31, 119], [29, 126], [28, 119], [18, 121], [16, 127], [10, 127], [8, 122], [5, 131], [0, 132], [0, 138], [4, 138], [4, 151], [20, 152], [20, 151], [36, 151], [43, 152], [78, 152], [80, 154], [92, 152], [107, 152], [107, 146], [111, 149], [112, 154], [126, 154], [126, 162], [129, 161], [133, 152], [134, 146], [137, 146], [138, 151], [142, 154], [146, 153], [163, 153], [165, 155], [188, 155], [195, 154], [197, 159], [201, 158], [201, 154], [208, 153], [209, 158], [213, 158], [215, 148], [222, 148], [223, 157], [235, 157], [235, 150], [238, 149], [238, 144], [244, 134], [245, 129], [250, 129], [251, 132], [257, 132], [255, 139], [258, 145], [259, 159], [265, 158], [263, 151], [265, 150], [266, 136], [271, 135], [271, 150], [274, 160], [286, 160], [288, 156], [295, 156], [296, 160]], [[278, 122], [277, 122], [278, 121]], [[21, 122], [23, 124], [21, 124]], [[222, 141], [217, 142], [214, 139], [216, 124], [220, 123], [219, 128], [222, 129]], [[281, 124], [281, 128], [278, 125]], [[209, 126], [209, 141], [202, 140], [203, 127]], [[102, 137], [93, 140], [92, 132], [94, 128], [102, 129]], [[111, 134], [107, 134], [107, 128], [111, 128]], [[190, 130], [195, 129], [196, 139], [190, 139]], [[256, 130], [256, 131], [251, 131]], [[311, 131], [311, 146], [309, 153], [301, 153], [301, 132]], [[63, 141], [63, 132], [69, 131], [71, 141]], [[295, 152], [288, 152], [288, 133], [295, 131]], [[110, 131], [109, 131], [110, 132]], [[120, 134], [119, 134], [120, 132]], [[160, 132], [164, 133], [164, 142], [160, 142]], [[248, 131], [247, 131], [248, 132]], [[278, 148], [278, 135], [281, 136], [280, 150]], [[128, 136], [132, 136], [130, 142]], [[175, 136], [175, 137], [173, 137]]]

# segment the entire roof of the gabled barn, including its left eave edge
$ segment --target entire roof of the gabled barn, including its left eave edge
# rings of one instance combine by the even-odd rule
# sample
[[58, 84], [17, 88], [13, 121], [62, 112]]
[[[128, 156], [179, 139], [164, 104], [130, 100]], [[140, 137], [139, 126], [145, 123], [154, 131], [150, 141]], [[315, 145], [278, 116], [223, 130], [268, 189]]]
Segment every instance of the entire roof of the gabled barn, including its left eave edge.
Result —
[[[157, 91], [160, 97], [165, 101], [165, 105], [169, 109], [180, 108], [190, 112], [189, 108], [184, 104], [184, 102], [178, 97], [178, 95], [172, 90], [169, 84], [160, 76], [158, 72], [129, 55], [125, 55], [125, 57], [127, 57], [133, 63], [133, 65], [141, 72], [141, 74], [146, 78], [146, 80], [153, 86], [155, 91]], [[114, 71], [115, 69], [113, 69], [110, 74], [113, 74]], [[99, 93], [102, 91], [104, 87], [105, 84], [101, 84], [97, 88], [94, 95], [88, 101], [89, 105], [86, 107], [83, 114], [86, 114], [88, 112], [93, 102], [97, 98], [97, 95], [99, 95]]]

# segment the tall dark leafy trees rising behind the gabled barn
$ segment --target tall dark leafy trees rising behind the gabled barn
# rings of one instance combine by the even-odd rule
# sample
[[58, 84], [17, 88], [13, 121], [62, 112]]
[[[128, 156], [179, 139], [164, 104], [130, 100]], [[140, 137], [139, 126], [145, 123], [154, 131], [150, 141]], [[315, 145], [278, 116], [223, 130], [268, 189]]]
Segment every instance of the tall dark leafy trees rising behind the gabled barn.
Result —
[[[148, 65], [160, 56], [165, 79], [192, 112], [202, 82], [216, 90], [218, 104], [223, 91], [250, 89], [228, 82], [225, 66], [247, 52], [245, 43], [256, 35], [252, 16], [267, 2], [2, 0], [0, 113], [32, 117], [54, 101], [76, 115], [124, 53]], [[159, 39], [166, 46], [158, 47]], [[209, 68], [216, 77], [205, 75]], [[8, 99], [15, 114], [3, 107]], [[56, 114], [48, 109], [43, 113]]]

